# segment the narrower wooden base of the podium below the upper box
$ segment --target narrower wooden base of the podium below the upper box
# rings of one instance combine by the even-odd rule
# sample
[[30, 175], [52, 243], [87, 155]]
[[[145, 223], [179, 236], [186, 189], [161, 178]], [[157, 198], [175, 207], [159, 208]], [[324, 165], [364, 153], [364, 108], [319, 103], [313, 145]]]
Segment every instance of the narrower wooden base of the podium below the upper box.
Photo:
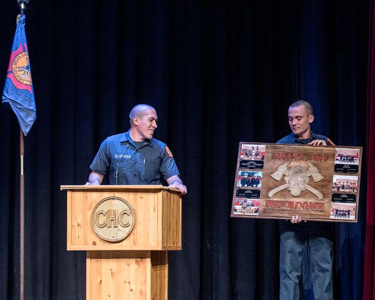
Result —
[[87, 300], [167, 300], [167, 251], [87, 251]]

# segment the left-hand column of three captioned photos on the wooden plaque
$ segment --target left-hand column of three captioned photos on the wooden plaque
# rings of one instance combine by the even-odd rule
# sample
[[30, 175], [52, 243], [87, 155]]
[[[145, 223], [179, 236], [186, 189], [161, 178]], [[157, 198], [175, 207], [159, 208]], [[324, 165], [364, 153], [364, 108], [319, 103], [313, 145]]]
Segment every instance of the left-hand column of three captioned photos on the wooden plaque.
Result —
[[258, 215], [266, 145], [242, 144], [237, 174], [235, 215]]

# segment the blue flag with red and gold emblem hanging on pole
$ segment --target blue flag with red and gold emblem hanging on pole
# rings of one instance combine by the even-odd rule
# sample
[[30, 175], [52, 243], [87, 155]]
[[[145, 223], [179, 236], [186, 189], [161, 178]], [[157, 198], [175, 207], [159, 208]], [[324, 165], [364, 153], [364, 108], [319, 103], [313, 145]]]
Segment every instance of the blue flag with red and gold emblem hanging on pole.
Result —
[[11, 106], [23, 134], [27, 135], [37, 117], [37, 109], [28, 59], [25, 15], [22, 15], [17, 23], [7, 78], [5, 79], [3, 103], [8, 103]]

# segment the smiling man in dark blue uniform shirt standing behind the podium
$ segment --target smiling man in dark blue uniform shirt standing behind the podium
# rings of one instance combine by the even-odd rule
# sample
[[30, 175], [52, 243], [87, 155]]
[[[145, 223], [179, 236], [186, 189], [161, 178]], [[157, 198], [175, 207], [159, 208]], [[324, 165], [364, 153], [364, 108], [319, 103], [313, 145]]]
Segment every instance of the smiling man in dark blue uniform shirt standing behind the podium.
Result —
[[111, 185], [161, 185], [163, 178], [170, 188], [186, 194], [170, 149], [152, 138], [158, 127], [155, 109], [138, 104], [129, 118], [128, 132], [110, 136], [101, 144], [86, 185], [100, 185], [109, 170]]

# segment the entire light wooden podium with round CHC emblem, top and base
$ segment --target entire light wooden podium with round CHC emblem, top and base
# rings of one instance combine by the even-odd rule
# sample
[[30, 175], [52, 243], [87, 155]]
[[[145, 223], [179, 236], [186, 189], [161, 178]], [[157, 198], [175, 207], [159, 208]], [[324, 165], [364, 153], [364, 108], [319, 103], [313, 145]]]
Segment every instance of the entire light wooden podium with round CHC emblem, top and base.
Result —
[[[61, 186], [61, 190], [67, 191], [67, 250], [86, 251], [86, 299], [167, 300], [167, 250], [181, 250], [179, 191], [159, 185]], [[111, 209], [118, 199], [131, 208], [125, 213]], [[108, 209], [98, 206], [107, 200]], [[133, 228], [121, 241], [106, 241], [96, 232], [98, 225], [121, 232], [118, 222], [130, 228], [126, 220], [130, 211]]]

